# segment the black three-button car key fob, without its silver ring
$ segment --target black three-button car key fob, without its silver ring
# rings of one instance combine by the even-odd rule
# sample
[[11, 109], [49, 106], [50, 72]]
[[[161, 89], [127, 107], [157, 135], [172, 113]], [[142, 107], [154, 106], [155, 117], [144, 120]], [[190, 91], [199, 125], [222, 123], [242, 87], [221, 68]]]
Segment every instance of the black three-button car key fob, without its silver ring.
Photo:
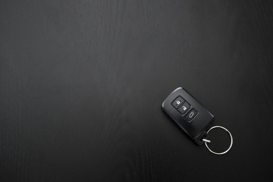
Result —
[[178, 87], [162, 103], [163, 111], [199, 145], [208, 138], [214, 116], [184, 88]]

